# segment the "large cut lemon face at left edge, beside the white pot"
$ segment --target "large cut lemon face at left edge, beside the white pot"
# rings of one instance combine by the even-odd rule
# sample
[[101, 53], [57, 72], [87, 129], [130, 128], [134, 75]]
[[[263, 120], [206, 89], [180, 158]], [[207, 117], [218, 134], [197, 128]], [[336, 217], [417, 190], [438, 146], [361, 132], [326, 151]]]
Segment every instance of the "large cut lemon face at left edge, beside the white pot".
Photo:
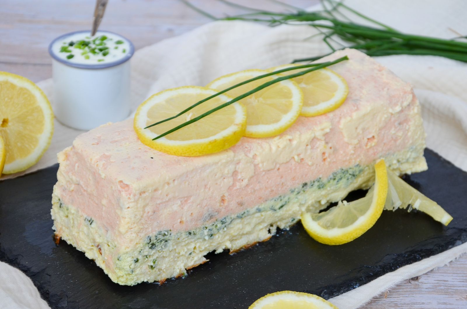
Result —
[[0, 136], [6, 149], [4, 174], [34, 165], [50, 145], [54, 114], [49, 100], [25, 77], [0, 72]]

